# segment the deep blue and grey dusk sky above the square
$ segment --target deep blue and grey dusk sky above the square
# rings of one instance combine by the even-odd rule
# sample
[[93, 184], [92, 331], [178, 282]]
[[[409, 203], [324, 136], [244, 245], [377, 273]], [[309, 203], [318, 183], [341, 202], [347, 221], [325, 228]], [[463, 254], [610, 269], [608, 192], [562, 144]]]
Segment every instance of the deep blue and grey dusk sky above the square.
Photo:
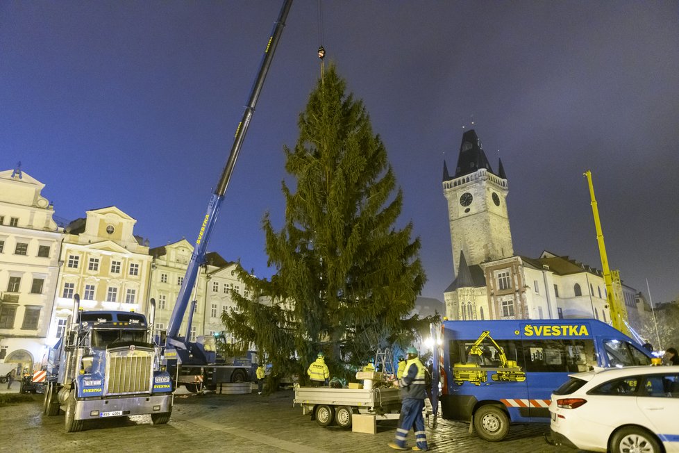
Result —
[[[196, 240], [282, 1], [0, 2], [0, 170], [68, 220], [115, 205], [151, 247]], [[208, 248], [269, 277], [262, 217], [283, 224], [283, 145], [317, 48], [362, 99], [421, 237], [453, 281], [444, 160], [475, 123], [508, 177], [514, 253], [610, 267], [653, 302], [679, 295], [679, 6], [671, 1], [296, 0]], [[458, 252], [459, 253], [459, 252]]]

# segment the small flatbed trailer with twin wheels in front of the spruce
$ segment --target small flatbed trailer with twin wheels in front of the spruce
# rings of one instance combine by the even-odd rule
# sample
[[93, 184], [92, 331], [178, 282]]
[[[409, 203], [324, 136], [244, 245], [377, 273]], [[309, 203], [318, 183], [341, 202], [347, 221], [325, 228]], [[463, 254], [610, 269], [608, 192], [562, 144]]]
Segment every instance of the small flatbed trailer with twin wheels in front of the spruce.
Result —
[[373, 415], [376, 420], [399, 418], [399, 388], [296, 387], [293, 404], [302, 406], [303, 415], [311, 414], [317, 424], [327, 427], [335, 422], [350, 428], [354, 414]]

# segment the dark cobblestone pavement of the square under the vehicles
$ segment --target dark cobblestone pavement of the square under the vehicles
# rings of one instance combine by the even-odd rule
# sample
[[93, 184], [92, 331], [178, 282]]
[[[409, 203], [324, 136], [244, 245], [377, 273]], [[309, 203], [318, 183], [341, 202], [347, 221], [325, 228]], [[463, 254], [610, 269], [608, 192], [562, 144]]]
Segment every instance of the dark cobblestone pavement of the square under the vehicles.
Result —
[[[4, 392], [3, 392], [4, 393]], [[42, 395], [33, 402], [0, 407], [0, 452], [393, 452], [395, 421], [378, 423], [377, 434], [319, 427], [292, 406], [292, 390], [269, 396], [181, 395], [167, 425], [151, 425], [149, 415], [92, 420], [86, 431], [64, 432], [64, 416], [42, 413]], [[565, 453], [545, 443], [548, 425], [514, 425], [508, 438], [488, 443], [469, 434], [469, 425], [438, 421], [427, 427], [433, 452]], [[414, 445], [412, 431], [408, 445]]]

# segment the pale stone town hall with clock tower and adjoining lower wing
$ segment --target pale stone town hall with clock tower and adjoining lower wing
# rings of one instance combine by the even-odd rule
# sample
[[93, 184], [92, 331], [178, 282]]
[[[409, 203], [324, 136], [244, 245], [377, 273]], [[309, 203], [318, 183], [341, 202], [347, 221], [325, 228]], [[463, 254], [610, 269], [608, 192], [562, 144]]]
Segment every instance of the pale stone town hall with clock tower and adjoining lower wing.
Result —
[[[610, 322], [601, 270], [548, 251], [514, 254], [502, 162], [492, 170], [476, 131], [462, 135], [453, 176], [444, 163], [455, 280], [446, 288], [452, 320], [594, 318]], [[644, 301], [622, 285], [630, 326], [644, 322]]]

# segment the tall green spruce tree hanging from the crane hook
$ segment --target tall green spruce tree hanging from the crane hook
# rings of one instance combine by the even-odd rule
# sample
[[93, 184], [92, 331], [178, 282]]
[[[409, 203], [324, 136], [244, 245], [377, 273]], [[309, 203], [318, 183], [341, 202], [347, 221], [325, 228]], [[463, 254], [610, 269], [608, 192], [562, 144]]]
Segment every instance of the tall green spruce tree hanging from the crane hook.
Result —
[[[276, 231], [268, 213], [263, 220], [276, 275], [251, 279], [253, 297], [237, 297], [224, 322], [279, 372], [305, 377], [323, 351], [331, 373], [348, 377], [376, 348], [405, 345], [430, 321], [406, 319], [426, 281], [420, 241], [412, 223], [395, 226], [403, 194], [387, 150], [334, 66], [298, 124], [294, 149], [284, 148], [294, 179], [294, 188], [283, 181], [285, 224]], [[260, 296], [273, 303], [258, 304]]]

